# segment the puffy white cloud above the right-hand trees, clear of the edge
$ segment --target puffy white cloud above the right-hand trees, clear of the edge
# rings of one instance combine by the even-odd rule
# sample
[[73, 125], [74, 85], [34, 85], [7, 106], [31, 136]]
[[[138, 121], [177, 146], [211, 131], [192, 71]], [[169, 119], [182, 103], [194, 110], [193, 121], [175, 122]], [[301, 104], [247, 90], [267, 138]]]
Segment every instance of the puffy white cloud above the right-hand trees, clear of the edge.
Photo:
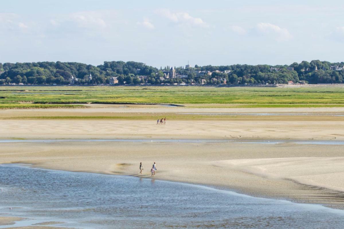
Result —
[[286, 28], [281, 28], [271, 23], [258, 23], [256, 26], [258, 33], [270, 35], [277, 41], [289, 41], [292, 36]]

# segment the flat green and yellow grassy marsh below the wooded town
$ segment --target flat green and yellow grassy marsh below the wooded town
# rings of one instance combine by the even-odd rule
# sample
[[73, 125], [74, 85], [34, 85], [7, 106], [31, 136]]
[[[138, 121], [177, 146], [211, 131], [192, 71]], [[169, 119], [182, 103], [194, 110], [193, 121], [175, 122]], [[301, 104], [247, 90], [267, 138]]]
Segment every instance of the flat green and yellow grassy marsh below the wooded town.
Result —
[[0, 109], [82, 106], [68, 103], [338, 107], [344, 106], [344, 87], [0, 87]]

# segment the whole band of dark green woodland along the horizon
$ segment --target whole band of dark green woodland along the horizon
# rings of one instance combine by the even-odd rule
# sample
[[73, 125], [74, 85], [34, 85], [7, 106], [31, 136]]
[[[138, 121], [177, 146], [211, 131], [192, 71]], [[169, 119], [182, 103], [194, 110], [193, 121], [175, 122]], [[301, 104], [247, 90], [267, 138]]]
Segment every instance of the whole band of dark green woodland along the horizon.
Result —
[[[117, 77], [119, 84], [274, 84], [274, 83], [344, 83], [344, 62], [331, 63], [312, 60], [294, 62], [291, 65], [228, 65], [174, 67], [183, 78], [164, 79], [164, 71], [170, 66], [154, 68], [134, 61], [105, 61], [93, 66], [77, 62], [32, 62], [0, 63], [0, 84], [69, 84], [71, 77], [78, 78], [75, 84], [107, 84], [111, 77]], [[219, 72], [215, 72], [218, 70]], [[224, 73], [225, 70], [230, 72]], [[211, 71], [207, 75], [200, 71]], [[89, 75], [92, 75], [92, 79]]]

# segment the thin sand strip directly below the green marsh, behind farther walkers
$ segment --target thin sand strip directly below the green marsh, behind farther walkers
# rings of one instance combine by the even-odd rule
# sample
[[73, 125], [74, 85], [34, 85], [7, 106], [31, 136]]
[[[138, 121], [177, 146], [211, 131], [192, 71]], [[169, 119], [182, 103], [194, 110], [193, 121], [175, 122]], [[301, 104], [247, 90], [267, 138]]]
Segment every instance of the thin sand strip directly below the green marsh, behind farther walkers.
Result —
[[[183, 106], [165, 105], [113, 105], [83, 104], [88, 108], [74, 109], [9, 109], [0, 110], [0, 118], [27, 116], [112, 116], [115, 114], [175, 114], [175, 113], [342, 113], [344, 107], [281, 107], [281, 108], [238, 108], [230, 104], [184, 104]], [[214, 106], [214, 107], [212, 107]]]

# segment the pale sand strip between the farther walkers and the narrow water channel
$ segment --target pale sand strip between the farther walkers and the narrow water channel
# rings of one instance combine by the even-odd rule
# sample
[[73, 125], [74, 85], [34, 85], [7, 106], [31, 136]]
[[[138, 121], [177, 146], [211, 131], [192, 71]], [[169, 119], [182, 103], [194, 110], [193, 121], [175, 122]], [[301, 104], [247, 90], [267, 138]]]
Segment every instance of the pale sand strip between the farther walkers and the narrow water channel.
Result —
[[[298, 119], [301, 119], [298, 117]], [[0, 138], [175, 138], [344, 140], [344, 118], [334, 121], [0, 120]]]

